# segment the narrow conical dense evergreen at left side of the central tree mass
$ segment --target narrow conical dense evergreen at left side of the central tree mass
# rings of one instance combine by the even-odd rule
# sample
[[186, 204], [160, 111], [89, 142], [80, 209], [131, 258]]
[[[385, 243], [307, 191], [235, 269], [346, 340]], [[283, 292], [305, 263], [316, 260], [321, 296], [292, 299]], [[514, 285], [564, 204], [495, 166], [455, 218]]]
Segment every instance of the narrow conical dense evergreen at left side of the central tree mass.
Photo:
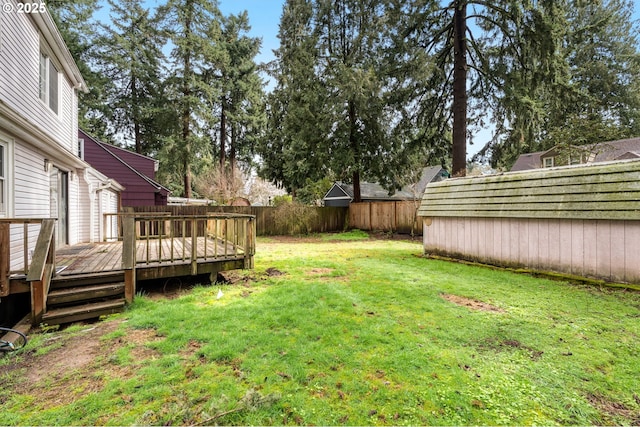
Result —
[[328, 169], [322, 136], [328, 130], [326, 94], [314, 69], [319, 54], [313, 16], [312, 0], [285, 2], [280, 47], [270, 69], [276, 87], [268, 96], [267, 132], [258, 147], [260, 175], [292, 194], [307, 179], [322, 179]]

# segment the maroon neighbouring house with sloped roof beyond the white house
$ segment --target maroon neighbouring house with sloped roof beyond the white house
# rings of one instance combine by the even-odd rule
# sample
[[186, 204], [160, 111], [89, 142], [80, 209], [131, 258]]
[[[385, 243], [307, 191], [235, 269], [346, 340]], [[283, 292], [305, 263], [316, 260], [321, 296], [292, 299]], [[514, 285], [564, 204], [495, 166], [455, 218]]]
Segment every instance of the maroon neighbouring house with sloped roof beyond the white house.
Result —
[[[99, 141], [81, 129], [78, 130], [78, 137], [85, 140], [85, 160], [106, 176], [117, 176], [118, 181], [125, 186], [122, 193], [123, 206], [158, 204], [155, 196], [150, 195], [156, 193], [163, 198], [162, 204], [166, 204], [170, 190], [142, 172], [154, 173], [154, 159]], [[94, 144], [94, 149], [88, 143]]]

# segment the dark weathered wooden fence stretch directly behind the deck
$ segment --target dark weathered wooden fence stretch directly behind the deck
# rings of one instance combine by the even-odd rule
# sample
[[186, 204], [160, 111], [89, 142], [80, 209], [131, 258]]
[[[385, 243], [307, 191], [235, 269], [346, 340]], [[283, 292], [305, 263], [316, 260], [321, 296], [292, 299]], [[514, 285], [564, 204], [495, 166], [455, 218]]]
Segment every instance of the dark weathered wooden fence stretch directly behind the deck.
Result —
[[[343, 231], [347, 224], [348, 208], [302, 206], [296, 211], [298, 218], [283, 221], [286, 206], [137, 206], [135, 212], [170, 213], [171, 215], [207, 215], [209, 213], [239, 213], [256, 217], [258, 236], [292, 235], [301, 233], [326, 233]], [[304, 217], [304, 224], [300, 218]]]

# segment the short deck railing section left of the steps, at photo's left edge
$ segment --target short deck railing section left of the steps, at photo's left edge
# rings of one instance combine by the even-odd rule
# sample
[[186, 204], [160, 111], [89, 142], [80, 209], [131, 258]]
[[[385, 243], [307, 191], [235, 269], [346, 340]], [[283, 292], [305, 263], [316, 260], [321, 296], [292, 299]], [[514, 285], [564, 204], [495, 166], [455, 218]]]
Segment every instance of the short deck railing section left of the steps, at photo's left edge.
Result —
[[43, 221], [45, 218], [0, 219], [0, 297], [9, 295], [10, 276], [29, 274]]

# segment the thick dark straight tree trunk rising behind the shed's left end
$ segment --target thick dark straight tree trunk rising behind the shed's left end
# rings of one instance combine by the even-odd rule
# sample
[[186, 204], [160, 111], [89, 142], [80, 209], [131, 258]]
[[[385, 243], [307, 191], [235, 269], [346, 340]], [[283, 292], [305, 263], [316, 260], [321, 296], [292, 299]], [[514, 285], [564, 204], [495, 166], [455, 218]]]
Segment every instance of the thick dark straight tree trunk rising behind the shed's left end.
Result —
[[467, 174], [467, 0], [453, 12], [453, 149], [452, 175]]

